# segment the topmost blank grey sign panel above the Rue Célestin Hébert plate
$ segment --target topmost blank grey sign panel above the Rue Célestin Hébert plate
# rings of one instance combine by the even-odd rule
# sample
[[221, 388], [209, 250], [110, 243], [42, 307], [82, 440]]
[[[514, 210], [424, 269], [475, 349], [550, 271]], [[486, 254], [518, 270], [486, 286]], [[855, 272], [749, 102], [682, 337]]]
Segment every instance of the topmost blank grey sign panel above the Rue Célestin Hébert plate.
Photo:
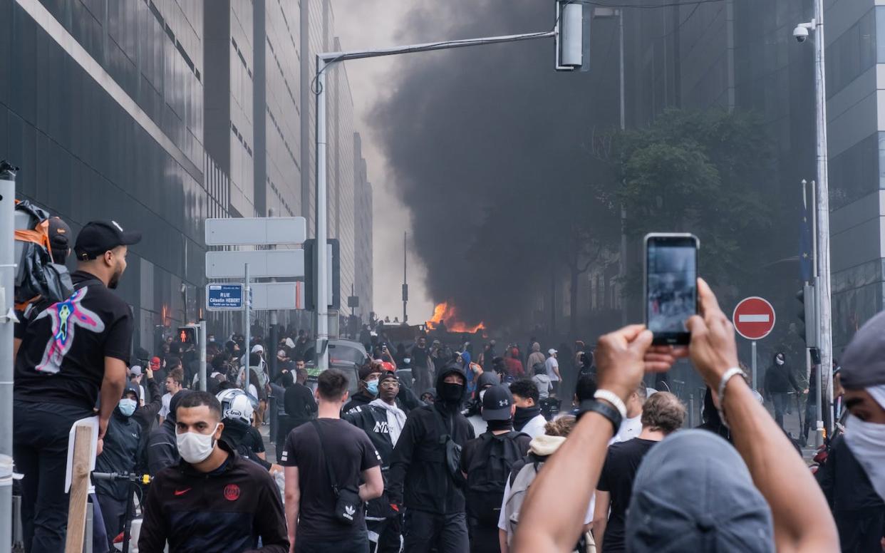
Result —
[[206, 219], [207, 246], [300, 244], [306, 238], [304, 217]]

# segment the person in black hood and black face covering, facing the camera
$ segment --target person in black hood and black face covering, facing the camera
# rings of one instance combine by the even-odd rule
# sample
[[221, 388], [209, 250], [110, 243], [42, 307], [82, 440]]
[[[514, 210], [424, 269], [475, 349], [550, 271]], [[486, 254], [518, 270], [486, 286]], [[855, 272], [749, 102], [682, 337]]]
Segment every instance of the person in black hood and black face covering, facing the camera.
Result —
[[460, 365], [443, 366], [436, 375], [436, 402], [409, 413], [393, 450], [388, 497], [392, 508], [406, 509], [405, 553], [469, 549], [465, 481], [454, 458], [475, 437], [461, 414], [466, 382]]

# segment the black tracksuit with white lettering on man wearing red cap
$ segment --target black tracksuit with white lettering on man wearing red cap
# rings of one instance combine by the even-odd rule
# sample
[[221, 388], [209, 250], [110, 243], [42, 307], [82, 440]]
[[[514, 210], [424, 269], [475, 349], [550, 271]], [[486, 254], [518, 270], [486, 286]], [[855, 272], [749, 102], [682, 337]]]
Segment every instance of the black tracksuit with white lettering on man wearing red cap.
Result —
[[[374, 405], [358, 405], [344, 413], [342, 419], [353, 426], [361, 428], [381, 457], [381, 477], [385, 488], [389, 480], [390, 458], [393, 457], [393, 439], [390, 437], [387, 411]], [[366, 526], [370, 532], [378, 534], [376, 553], [399, 552], [399, 513], [390, 506], [387, 493], [368, 503], [366, 510]]]

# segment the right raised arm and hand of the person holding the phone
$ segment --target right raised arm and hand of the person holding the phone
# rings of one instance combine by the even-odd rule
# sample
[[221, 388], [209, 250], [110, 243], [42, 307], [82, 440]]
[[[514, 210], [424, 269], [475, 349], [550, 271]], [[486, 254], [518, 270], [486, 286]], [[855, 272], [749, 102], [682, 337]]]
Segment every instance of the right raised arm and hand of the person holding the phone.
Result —
[[839, 538], [824, 495], [746, 381], [729, 379], [724, 397], [719, 397], [722, 376], [738, 366], [735, 330], [706, 282], [698, 279], [697, 288], [701, 315], [689, 319], [691, 360], [713, 390], [735, 448], [771, 506], [776, 549], [780, 553], [838, 551]]

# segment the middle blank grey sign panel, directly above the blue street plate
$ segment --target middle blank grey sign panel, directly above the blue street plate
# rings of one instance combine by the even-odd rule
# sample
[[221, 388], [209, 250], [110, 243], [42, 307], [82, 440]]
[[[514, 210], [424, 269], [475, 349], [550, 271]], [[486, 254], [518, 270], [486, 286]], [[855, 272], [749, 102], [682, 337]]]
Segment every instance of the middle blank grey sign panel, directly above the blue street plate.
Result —
[[250, 278], [304, 276], [304, 250], [207, 251], [207, 279], [237, 279], [249, 264]]

